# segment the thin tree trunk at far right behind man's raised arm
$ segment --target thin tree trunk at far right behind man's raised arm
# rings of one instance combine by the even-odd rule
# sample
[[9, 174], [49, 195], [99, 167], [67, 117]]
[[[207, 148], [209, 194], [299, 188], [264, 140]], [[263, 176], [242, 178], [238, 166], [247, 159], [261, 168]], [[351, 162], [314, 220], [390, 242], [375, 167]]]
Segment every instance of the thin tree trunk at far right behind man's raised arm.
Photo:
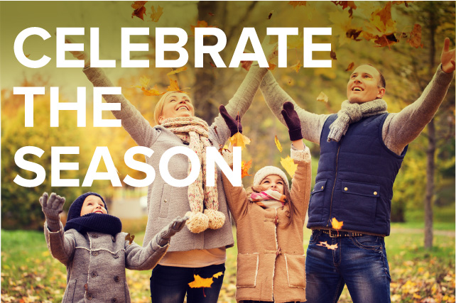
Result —
[[[432, 73], [435, 65], [435, 13], [429, 10], [429, 71]], [[433, 197], [434, 197], [434, 175], [435, 175], [435, 124], [432, 119], [428, 124], [428, 150], [426, 150], [426, 194], [424, 202], [424, 248], [433, 247]]]

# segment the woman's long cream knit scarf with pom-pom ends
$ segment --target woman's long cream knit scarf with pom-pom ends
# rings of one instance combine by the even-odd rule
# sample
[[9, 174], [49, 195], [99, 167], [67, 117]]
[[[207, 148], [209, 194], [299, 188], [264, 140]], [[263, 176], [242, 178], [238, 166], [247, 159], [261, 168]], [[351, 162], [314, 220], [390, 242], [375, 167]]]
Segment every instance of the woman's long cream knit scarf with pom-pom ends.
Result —
[[[161, 125], [172, 131], [184, 143], [189, 143], [188, 147], [200, 159], [200, 174], [195, 182], [188, 186], [188, 202], [191, 210], [185, 214], [190, 217], [186, 222], [188, 229], [192, 233], [200, 233], [207, 228], [222, 227], [225, 216], [218, 211], [217, 169], [215, 169], [215, 186], [206, 187], [206, 147], [212, 146], [208, 138], [209, 126], [204, 120], [195, 116], [168, 118]], [[191, 169], [191, 162], [189, 162], [188, 174]]]

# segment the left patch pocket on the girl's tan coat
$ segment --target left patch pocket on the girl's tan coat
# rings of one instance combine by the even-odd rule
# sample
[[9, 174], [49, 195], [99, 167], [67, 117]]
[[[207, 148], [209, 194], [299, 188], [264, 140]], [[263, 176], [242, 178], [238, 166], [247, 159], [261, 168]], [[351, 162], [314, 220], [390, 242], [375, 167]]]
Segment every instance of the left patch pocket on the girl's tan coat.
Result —
[[256, 287], [259, 254], [237, 254], [237, 287]]

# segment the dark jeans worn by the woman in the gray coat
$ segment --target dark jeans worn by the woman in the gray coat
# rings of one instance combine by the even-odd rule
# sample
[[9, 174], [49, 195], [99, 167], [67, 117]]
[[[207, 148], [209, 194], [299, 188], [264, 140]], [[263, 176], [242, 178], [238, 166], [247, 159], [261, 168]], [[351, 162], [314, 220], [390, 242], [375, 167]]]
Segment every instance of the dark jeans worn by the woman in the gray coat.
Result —
[[[219, 277], [212, 277], [223, 272]], [[225, 272], [225, 265], [210, 265], [204, 268], [178, 268], [157, 265], [152, 270], [151, 299], [153, 303], [182, 303], [185, 293], [187, 303], [217, 303]], [[195, 280], [194, 275], [212, 277], [211, 287], [191, 288], [188, 283]]]

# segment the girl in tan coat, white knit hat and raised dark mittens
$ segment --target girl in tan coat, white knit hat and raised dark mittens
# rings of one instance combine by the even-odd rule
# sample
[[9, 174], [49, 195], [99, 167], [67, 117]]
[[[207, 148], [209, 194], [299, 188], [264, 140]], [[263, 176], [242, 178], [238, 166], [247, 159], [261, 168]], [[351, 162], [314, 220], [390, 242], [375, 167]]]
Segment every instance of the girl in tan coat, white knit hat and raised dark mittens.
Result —
[[[261, 168], [247, 191], [233, 187], [223, 175], [237, 227], [237, 302], [305, 301], [303, 227], [310, 195], [310, 152], [293, 104], [283, 108], [293, 143], [291, 158], [298, 164], [291, 189], [278, 167]], [[220, 112], [232, 132], [241, 131], [239, 119], [224, 114], [223, 108]]]

